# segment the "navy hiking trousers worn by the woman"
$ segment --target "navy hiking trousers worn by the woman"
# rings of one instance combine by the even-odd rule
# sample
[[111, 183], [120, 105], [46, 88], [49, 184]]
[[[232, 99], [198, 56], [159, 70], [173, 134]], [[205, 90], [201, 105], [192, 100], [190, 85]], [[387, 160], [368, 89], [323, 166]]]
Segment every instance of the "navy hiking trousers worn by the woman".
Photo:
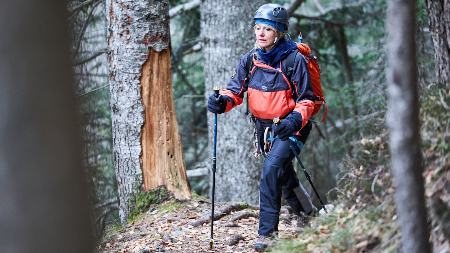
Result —
[[278, 232], [279, 213], [281, 208], [281, 194], [287, 200], [293, 212], [301, 215], [316, 210], [311, 197], [297, 178], [292, 163], [295, 155], [289, 145], [293, 145], [300, 154], [306, 138], [297, 138], [300, 147], [292, 141], [281, 141], [278, 138], [272, 143], [270, 152], [264, 160], [260, 184], [260, 212], [258, 234], [270, 236]]

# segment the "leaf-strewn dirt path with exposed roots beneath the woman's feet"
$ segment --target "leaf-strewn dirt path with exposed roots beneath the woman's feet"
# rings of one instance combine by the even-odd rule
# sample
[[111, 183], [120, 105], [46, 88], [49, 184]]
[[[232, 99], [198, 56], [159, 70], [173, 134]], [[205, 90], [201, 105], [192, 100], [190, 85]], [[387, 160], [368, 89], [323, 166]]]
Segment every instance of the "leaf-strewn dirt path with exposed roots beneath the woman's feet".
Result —
[[[191, 199], [169, 200], [149, 210], [135, 221], [111, 230], [103, 237], [97, 253], [244, 253], [256, 252], [259, 206], [246, 203], [216, 203], [214, 237], [210, 248], [211, 203]], [[297, 216], [290, 208], [281, 209], [280, 238], [296, 238]], [[116, 227], [117, 229], [117, 227]]]

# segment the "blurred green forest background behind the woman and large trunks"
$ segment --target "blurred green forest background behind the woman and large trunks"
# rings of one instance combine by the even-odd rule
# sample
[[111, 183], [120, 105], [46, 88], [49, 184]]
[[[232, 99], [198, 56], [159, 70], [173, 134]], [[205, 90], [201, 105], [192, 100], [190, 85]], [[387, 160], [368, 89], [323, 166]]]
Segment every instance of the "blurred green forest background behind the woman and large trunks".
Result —
[[[185, 8], [182, 12], [177, 9], [188, 2], [194, 8]], [[204, 83], [199, 2], [170, 0], [171, 63], [176, 115], [189, 183], [197, 194], [208, 197], [207, 170], [211, 154], [205, 97], [211, 91], [205, 90]], [[433, 164], [446, 164], [448, 160], [450, 117], [447, 104], [450, 99], [448, 88], [436, 80], [425, 1], [416, 2], [422, 150], [425, 166], [429, 168]], [[290, 4], [286, 0], [273, 3]], [[385, 123], [386, 8], [386, 1], [306, 0], [290, 16], [288, 33], [297, 38], [302, 32], [303, 41], [311, 47], [322, 71], [328, 114], [323, 123], [314, 125], [302, 152], [302, 161], [312, 174], [319, 194], [326, 196], [329, 202], [347, 196], [349, 206], [364, 208], [372, 205], [371, 202], [382, 203], [385, 200], [379, 198], [392, 193]], [[105, 9], [105, 1], [99, 0], [73, 0], [67, 6], [83, 164], [90, 180], [96, 237], [105, 226], [118, 219]], [[323, 113], [324, 109], [317, 118]], [[248, 118], [236, 119], [241, 120]], [[248, 136], [249, 145], [251, 141], [252, 136]], [[427, 183], [437, 180], [435, 175], [439, 173], [443, 171], [439, 169], [430, 174]], [[299, 178], [309, 186], [304, 176], [299, 175]]]

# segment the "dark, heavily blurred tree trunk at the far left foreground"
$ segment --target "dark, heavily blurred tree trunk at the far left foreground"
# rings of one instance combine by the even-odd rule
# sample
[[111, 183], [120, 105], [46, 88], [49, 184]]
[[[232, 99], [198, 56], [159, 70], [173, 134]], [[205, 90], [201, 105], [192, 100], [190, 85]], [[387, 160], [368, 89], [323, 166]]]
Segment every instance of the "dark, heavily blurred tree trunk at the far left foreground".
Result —
[[59, 0], [0, 8], [1, 252], [92, 250], [65, 14]]

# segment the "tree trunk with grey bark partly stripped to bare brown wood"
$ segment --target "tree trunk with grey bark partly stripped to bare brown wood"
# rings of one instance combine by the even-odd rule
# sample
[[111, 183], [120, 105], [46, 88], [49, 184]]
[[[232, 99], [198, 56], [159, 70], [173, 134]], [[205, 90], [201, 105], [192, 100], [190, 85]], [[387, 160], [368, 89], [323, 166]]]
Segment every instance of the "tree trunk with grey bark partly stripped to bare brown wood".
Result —
[[159, 185], [190, 196], [171, 85], [167, 0], [107, 1], [114, 167], [122, 222]]

